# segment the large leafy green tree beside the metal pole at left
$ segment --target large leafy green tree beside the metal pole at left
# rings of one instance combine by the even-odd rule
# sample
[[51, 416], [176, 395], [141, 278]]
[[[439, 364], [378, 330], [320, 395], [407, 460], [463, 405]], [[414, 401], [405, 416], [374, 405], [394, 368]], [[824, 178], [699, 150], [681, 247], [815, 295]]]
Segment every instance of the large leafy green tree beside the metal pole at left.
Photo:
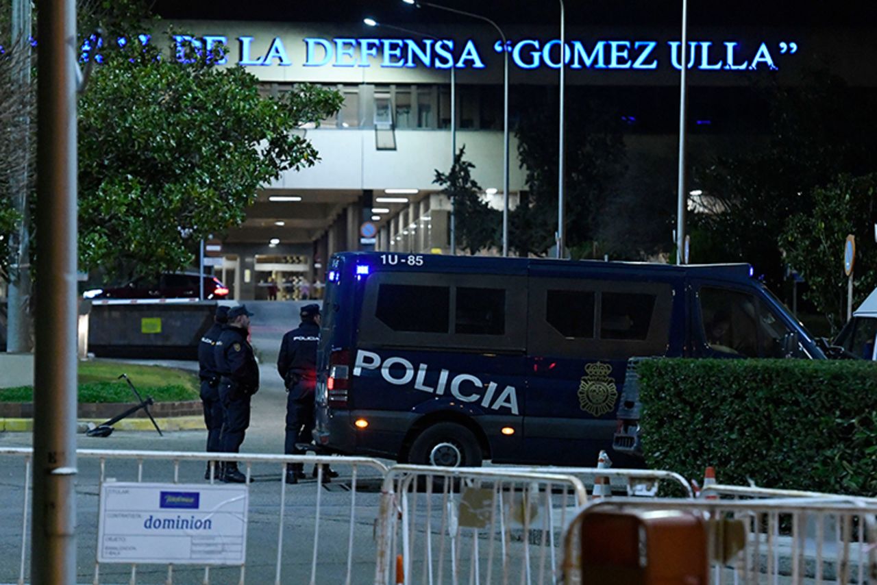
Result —
[[260, 187], [319, 160], [298, 128], [342, 103], [310, 85], [261, 96], [255, 76], [217, 67], [218, 54], [181, 63], [152, 41], [101, 56], [79, 103], [79, 252], [81, 268], [111, 277], [189, 265]]

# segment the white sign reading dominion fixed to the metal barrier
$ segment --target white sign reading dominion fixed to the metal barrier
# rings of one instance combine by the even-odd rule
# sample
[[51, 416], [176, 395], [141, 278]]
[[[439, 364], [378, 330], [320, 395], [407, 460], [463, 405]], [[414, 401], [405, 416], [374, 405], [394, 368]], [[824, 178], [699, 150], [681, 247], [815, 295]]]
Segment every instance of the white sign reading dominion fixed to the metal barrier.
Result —
[[243, 565], [247, 494], [246, 484], [104, 483], [97, 561]]

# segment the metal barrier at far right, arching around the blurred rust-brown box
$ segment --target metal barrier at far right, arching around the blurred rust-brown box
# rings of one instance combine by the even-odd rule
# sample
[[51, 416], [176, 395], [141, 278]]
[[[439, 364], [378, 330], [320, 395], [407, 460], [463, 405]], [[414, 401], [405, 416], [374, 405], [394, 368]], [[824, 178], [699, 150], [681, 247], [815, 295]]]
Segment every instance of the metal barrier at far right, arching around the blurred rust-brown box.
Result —
[[[825, 495], [752, 500], [616, 498], [588, 505], [571, 524], [565, 540], [564, 582], [588, 583], [581, 548], [582, 525], [588, 514], [671, 510], [702, 519], [709, 580], [717, 585], [865, 583], [877, 577], [877, 503], [873, 501]], [[647, 557], [646, 564], [638, 568], [647, 571], [649, 563], [660, 562]]]

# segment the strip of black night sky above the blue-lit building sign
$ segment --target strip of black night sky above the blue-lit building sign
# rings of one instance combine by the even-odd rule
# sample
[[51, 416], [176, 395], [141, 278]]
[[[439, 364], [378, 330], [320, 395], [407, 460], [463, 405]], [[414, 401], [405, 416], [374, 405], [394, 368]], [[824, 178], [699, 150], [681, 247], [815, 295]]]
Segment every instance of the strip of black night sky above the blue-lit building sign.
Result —
[[[552, 25], [559, 3], [552, 0], [441, 0], [474, 11], [499, 24]], [[674, 25], [681, 18], [681, 0], [567, 0], [567, 25]], [[374, 16], [386, 22], [466, 22], [444, 11], [416, 9], [401, 0], [157, 0], [154, 11], [168, 19], [274, 20], [292, 22], [360, 22]], [[697, 25], [842, 25], [877, 26], [877, 2], [835, 0], [689, 0], [688, 22]]]

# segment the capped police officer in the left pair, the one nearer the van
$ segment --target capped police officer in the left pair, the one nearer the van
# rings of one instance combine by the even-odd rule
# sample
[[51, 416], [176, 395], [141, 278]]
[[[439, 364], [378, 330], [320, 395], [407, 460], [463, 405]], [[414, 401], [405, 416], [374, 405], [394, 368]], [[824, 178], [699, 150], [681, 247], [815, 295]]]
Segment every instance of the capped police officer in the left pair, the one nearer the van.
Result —
[[[246, 340], [252, 316], [246, 305], [232, 307], [228, 311], [228, 323], [214, 347], [219, 372], [219, 399], [225, 415], [219, 442], [220, 450], [225, 453], [239, 452], [246, 428], [250, 425], [250, 398], [259, 391], [259, 365], [253, 347]], [[225, 464], [223, 481], [246, 482], [237, 462]]]

